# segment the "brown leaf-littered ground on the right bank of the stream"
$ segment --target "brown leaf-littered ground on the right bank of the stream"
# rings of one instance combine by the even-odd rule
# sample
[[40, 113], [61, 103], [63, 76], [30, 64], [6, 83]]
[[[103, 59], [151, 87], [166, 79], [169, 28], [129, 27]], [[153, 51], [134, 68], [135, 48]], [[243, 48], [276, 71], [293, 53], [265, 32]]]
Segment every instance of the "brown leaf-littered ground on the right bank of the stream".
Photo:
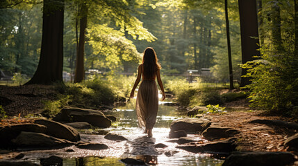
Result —
[[278, 116], [262, 116], [260, 111], [233, 111], [223, 115], [208, 115], [216, 126], [233, 127], [240, 131], [235, 135], [238, 140], [238, 150], [241, 151], [286, 151], [283, 142], [289, 137], [297, 133], [294, 129], [285, 127], [268, 126], [266, 124], [249, 123], [251, 120], [267, 119], [267, 120], [285, 120]]

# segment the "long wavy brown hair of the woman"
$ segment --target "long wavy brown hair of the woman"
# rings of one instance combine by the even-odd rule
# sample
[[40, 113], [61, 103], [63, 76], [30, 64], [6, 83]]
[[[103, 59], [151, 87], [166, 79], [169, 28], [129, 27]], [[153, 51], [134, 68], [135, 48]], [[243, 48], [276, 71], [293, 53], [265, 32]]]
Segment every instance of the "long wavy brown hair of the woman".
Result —
[[144, 68], [143, 74], [146, 78], [154, 78], [156, 71], [161, 68], [153, 48], [147, 47], [144, 50], [142, 66]]

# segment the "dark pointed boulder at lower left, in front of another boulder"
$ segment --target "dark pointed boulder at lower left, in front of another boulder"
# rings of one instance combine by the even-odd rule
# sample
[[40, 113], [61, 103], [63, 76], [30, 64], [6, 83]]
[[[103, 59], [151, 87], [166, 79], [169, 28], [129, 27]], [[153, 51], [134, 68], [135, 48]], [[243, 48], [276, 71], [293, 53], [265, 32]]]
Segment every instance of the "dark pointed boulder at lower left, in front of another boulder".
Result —
[[48, 136], [44, 133], [22, 131], [17, 138], [11, 140], [18, 147], [26, 149], [56, 149], [74, 145], [74, 142]]

